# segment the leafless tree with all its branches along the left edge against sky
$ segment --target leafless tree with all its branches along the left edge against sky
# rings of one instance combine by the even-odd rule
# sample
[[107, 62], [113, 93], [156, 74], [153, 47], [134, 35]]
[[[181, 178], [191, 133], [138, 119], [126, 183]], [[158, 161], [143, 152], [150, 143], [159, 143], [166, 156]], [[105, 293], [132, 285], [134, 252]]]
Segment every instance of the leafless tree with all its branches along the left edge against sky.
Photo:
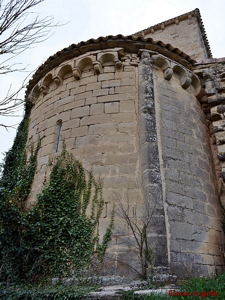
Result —
[[[24, 71], [19, 68], [19, 63], [10, 63], [10, 59], [41, 42], [50, 36], [53, 18], [47, 16], [39, 18], [32, 8], [44, 0], [0, 0], [0, 74], [13, 71]], [[18, 91], [26, 85], [23, 81]], [[13, 115], [24, 104], [23, 99], [18, 99], [16, 92], [8, 93], [0, 99], [0, 115]], [[4, 124], [1, 126], [7, 127]]]

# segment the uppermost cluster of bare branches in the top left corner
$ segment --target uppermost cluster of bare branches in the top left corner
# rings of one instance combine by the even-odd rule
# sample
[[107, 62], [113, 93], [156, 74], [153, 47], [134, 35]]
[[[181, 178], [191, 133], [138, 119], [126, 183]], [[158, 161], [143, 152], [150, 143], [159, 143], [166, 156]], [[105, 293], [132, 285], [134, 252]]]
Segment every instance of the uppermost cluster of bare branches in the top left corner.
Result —
[[[52, 27], [52, 17], [39, 18], [35, 16], [31, 22], [27, 17], [33, 13], [28, 11], [43, 0], [9, 0], [5, 5], [0, 4], [0, 54], [17, 54], [36, 42], [43, 41]], [[2, 8], [3, 7], [3, 8]], [[10, 32], [7, 31], [10, 29]], [[6, 34], [4, 34], [6, 32]], [[9, 34], [8, 34], [9, 32]]]

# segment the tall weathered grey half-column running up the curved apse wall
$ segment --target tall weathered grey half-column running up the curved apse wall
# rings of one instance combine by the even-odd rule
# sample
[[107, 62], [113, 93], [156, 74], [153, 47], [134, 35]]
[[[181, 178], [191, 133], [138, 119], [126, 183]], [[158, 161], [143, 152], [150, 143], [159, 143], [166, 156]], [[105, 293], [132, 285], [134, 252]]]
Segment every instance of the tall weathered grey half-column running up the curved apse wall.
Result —
[[[150, 116], [153, 119], [154, 123], [154, 91], [153, 91], [153, 78], [152, 78], [152, 66], [150, 56], [148, 53], [143, 52], [139, 63], [139, 115], [141, 128], [143, 128], [142, 133], [142, 142], [140, 141], [140, 153], [141, 153], [141, 167], [142, 167], [142, 180], [143, 180], [143, 197], [144, 205], [147, 207], [145, 213], [149, 213], [149, 202], [148, 202], [148, 192], [153, 191], [151, 185], [158, 186], [158, 195], [157, 198], [152, 199], [155, 202], [158, 201], [158, 198], [162, 198], [161, 189], [161, 176], [159, 169], [159, 157], [158, 157], [158, 148], [155, 140], [155, 125], [152, 126], [150, 136], [153, 135], [153, 141], [149, 136], [147, 137], [147, 132], [145, 131], [148, 117]], [[147, 78], [147, 79], [146, 79]], [[121, 80], [122, 81], [122, 80]], [[127, 79], [126, 79], [127, 82]], [[149, 106], [150, 103], [150, 106]], [[154, 151], [151, 151], [154, 149]], [[151, 157], [151, 158], [150, 158]], [[147, 188], [146, 188], [147, 186]], [[152, 219], [153, 220], [153, 219]], [[151, 221], [150, 221], [151, 222]], [[158, 231], [158, 227], [161, 227], [162, 231]], [[153, 230], [153, 231], [152, 231]], [[147, 227], [146, 233], [147, 236], [151, 235], [151, 244], [155, 245], [157, 242], [157, 247], [159, 251], [154, 250], [154, 264], [155, 265], [168, 265], [167, 252], [166, 252], [166, 235], [165, 232], [165, 218], [164, 215], [161, 218], [157, 218], [156, 226]], [[152, 236], [153, 234], [153, 236]], [[153, 247], [154, 248], [154, 247]], [[162, 258], [163, 257], [163, 258]]]

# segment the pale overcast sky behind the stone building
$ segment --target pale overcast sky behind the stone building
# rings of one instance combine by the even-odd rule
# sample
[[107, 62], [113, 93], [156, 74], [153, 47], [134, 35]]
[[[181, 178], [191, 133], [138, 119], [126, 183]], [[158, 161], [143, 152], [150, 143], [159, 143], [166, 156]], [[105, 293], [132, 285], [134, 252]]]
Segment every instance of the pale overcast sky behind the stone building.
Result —
[[[3, 4], [6, 1], [3, 0]], [[224, 0], [45, 0], [33, 11], [40, 13], [42, 18], [52, 15], [55, 23], [68, 23], [54, 28], [52, 36], [18, 55], [16, 61], [22, 62], [23, 66], [28, 65], [27, 70], [32, 71], [50, 55], [72, 43], [110, 34], [129, 35], [195, 8], [200, 10], [213, 57], [224, 57]], [[10, 84], [11, 90], [16, 90], [27, 74], [14, 72], [1, 75], [0, 97], [6, 94]], [[24, 91], [20, 93], [20, 97], [23, 96]], [[8, 125], [20, 120], [21, 116], [0, 117], [0, 123]], [[15, 131], [10, 128], [7, 132], [0, 126], [0, 161], [1, 153], [11, 147]]]

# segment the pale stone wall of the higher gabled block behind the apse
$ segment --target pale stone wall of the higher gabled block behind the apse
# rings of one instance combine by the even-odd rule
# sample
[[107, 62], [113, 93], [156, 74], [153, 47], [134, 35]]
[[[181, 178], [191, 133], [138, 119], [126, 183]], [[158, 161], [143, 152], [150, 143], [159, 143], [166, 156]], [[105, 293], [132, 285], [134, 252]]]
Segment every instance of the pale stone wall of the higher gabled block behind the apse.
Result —
[[157, 30], [146, 33], [144, 37], [170, 43], [193, 59], [208, 58], [197, 19], [191, 15], [189, 17], [169, 26], [162, 25]]

